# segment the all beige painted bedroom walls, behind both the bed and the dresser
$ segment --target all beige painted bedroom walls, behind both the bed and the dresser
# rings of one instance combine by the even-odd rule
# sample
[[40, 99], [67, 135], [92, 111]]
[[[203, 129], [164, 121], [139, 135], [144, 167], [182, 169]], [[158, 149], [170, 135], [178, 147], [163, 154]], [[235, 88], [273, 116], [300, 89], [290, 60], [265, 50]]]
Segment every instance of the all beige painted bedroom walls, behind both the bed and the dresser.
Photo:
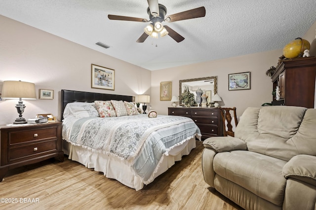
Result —
[[[248, 106], [271, 102], [272, 82], [265, 72], [276, 66], [282, 55], [278, 49], [149, 71], [3, 16], [0, 26], [0, 90], [4, 80], [34, 82], [37, 94], [39, 89], [54, 90], [54, 100], [25, 100], [25, 118], [52, 113], [60, 119], [61, 89], [132, 96], [150, 94], [152, 108], [158, 114], [167, 114], [171, 102], [159, 100], [160, 82], [172, 81], [172, 95], [179, 95], [180, 79], [205, 76], [218, 76], [218, 94], [223, 100], [220, 105], [236, 106], [240, 116]], [[303, 38], [312, 42], [315, 29], [316, 23]], [[115, 91], [91, 89], [91, 64], [115, 70]], [[251, 89], [228, 91], [228, 74], [245, 71], [251, 72]], [[0, 101], [0, 124], [12, 123], [18, 117], [16, 103], [16, 100]]]

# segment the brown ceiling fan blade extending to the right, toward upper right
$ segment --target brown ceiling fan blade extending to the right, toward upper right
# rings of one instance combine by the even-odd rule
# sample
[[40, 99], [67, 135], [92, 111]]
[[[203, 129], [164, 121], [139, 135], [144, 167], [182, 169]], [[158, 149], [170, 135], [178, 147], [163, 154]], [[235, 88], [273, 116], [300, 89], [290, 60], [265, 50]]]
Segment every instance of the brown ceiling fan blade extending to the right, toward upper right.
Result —
[[205, 16], [205, 7], [201, 6], [195, 9], [190, 9], [184, 12], [179, 12], [173, 15], [168, 15], [165, 18], [165, 21], [167, 22], [175, 22], [179, 20], [188, 20], [192, 18], [199, 18]]

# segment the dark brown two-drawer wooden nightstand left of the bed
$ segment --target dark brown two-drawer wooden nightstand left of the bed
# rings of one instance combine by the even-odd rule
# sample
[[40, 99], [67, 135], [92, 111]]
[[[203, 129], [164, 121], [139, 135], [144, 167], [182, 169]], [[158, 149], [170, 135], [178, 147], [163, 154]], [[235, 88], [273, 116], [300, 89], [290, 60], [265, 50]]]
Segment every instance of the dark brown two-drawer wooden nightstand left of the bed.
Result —
[[8, 170], [52, 157], [64, 161], [61, 122], [0, 125], [0, 181]]

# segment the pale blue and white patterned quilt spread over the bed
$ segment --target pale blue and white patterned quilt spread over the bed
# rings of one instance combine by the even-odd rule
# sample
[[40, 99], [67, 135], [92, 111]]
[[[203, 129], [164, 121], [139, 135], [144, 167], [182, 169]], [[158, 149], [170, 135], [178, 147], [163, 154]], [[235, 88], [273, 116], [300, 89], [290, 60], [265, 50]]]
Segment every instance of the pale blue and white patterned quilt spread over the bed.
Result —
[[150, 181], [163, 155], [197, 136], [192, 119], [181, 116], [145, 114], [121, 117], [69, 117], [63, 120], [64, 140], [94, 152], [118, 157], [131, 166], [144, 183]]

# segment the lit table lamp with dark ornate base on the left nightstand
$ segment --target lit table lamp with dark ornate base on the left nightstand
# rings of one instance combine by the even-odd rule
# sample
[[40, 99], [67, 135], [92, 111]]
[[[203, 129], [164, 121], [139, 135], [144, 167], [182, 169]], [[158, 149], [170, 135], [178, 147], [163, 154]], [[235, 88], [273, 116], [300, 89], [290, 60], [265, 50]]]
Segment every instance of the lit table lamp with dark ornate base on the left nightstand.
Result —
[[27, 123], [22, 114], [25, 109], [23, 100], [36, 99], [35, 85], [31, 82], [19, 81], [3, 81], [2, 85], [2, 98], [3, 99], [19, 99], [18, 104], [15, 105], [19, 113], [19, 117], [15, 119], [13, 124]]

